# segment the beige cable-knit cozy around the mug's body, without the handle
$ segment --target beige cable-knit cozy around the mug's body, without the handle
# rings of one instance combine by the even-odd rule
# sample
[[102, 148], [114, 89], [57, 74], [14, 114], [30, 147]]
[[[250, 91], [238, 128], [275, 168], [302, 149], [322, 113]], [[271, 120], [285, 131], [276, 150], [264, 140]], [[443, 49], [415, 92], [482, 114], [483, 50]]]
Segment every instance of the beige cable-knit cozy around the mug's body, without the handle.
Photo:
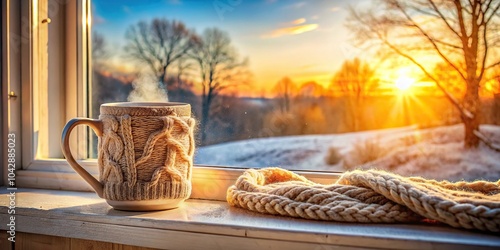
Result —
[[190, 109], [101, 106], [98, 142], [103, 198], [187, 199], [195, 121]]

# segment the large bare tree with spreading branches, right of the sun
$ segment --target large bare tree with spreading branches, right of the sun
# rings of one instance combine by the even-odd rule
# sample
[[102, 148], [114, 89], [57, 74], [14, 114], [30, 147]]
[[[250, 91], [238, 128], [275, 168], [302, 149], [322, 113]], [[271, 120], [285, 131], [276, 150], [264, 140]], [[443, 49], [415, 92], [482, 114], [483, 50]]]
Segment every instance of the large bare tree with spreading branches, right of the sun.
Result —
[[[420, 68], [459, 110], [464, 146], [475, 148], [480, 140], [479, 86], [485, 72], [500, 64], [492, 58], [499, 42], [499, 8], [497, 0], [381, 0], [367, 12], [351, 9], [348, 26], [362, 43], [378, 42]], [[460, 75], [465, 88], [462, 103], [423, 56], [438, 58]]]

